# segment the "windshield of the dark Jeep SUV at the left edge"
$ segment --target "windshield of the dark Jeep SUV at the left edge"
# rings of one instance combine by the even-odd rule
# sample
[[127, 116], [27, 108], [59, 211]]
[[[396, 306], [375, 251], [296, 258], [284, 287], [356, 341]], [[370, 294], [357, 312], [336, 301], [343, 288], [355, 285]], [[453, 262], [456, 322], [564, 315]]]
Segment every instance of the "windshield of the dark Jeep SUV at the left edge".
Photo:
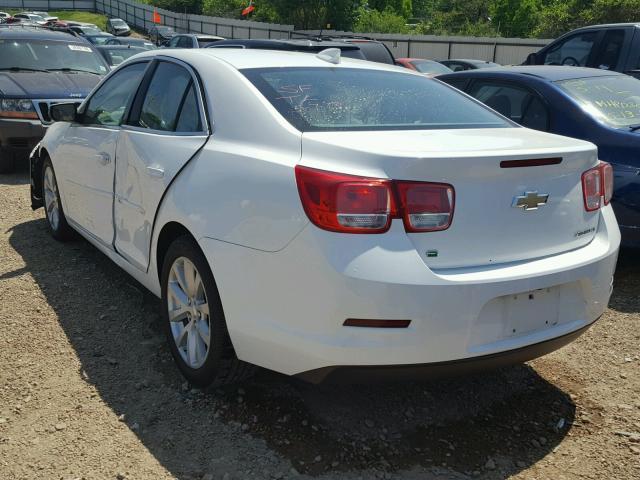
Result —
[[104, 75], [107, 67], [86, 44], [0, 39], [0, 69], [86, 70]]

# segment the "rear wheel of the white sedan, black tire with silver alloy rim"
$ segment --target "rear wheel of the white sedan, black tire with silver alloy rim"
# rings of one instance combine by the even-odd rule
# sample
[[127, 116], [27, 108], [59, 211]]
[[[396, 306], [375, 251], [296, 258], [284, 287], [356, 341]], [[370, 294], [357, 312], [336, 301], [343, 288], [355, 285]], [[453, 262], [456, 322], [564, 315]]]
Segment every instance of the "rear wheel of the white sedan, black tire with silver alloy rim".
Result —
[[169, 246], [161, 286], [164, 329], [182, 375], [200, 388], [251, 376], [255, 367], [235, 355], [213, 274], [191, 237], [179, 237]]

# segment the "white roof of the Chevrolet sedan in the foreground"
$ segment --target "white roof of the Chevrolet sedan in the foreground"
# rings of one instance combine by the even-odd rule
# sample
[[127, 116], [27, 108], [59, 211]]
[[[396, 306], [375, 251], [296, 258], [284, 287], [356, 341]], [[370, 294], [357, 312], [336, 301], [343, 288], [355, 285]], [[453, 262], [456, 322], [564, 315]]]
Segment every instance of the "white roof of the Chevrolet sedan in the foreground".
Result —
[[198, 69], [211, 66], [211, 60], [217, 59], [237, 70], [248, 68], [274, 67], [326, 67], [326, 68], [366, 68], [386, 70], [418, 75], [410, 70], [385, 63], [342, 57], [338, 65], [322, 60], [313, 53], [244, 48], [189, 48], [147, 50], [137, 58], [165, 56], [182, 60]]

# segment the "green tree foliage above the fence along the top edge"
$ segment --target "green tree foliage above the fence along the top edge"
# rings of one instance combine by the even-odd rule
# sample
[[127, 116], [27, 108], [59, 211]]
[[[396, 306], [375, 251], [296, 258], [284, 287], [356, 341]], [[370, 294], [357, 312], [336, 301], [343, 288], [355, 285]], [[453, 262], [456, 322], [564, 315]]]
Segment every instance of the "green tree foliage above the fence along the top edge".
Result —
[[[240, 12], [249, 4], [142, 1], [176, 12], [231, 18], [244, 18]], [[372, 33], [554, 38], [584, 25], [640, 20], [640, 0], [254, 0], [254, 5], [251, 20]]]

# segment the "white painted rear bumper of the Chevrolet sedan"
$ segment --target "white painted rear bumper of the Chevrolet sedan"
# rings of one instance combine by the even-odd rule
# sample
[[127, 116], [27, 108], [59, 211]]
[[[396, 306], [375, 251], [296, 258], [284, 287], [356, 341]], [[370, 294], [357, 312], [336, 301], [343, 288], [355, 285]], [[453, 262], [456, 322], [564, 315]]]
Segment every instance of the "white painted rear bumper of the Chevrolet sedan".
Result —
[[[556, 339], [570, 341], [606, 310], [620, 231], [606, 207], [585, 247], [448, 271], [430, 270], [401, 224], [384, 235], [334, 234], [309, 225], [279, 252], [210, 238], [200, 245], [238, 357], [322, 378], [344, 366], [422, 369], [464, 361], [487, 368], [485, 360], [496, 355], [511, 352], [508, 363], [558, 348], [563, 341]], [[343, 325], [354, 318], [411, 323]], [[546, 346], [529, 348], [535, 345]]]

